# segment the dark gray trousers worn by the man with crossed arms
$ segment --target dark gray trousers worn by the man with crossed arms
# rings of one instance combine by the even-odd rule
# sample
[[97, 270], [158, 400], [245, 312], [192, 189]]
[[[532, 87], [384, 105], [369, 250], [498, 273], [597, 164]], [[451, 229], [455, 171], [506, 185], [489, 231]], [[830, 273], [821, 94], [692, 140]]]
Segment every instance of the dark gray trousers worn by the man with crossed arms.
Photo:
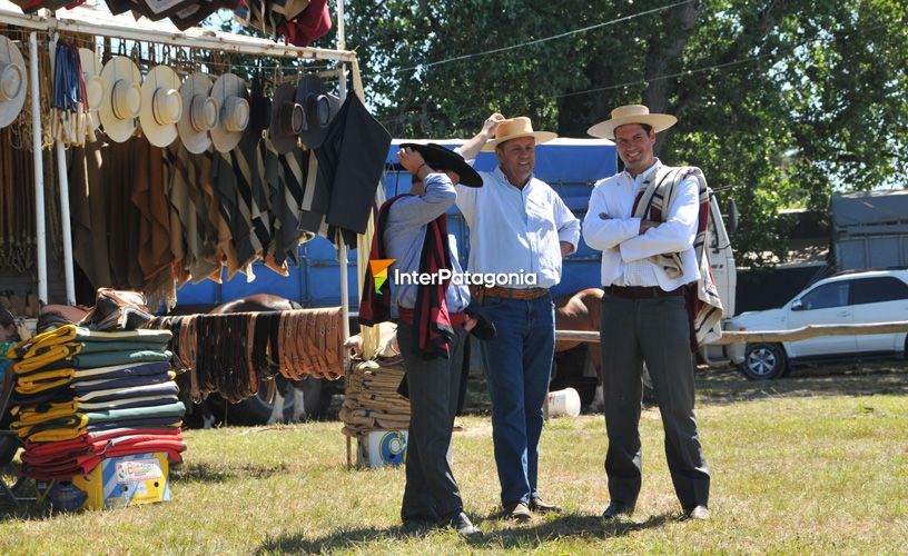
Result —
[[650, 371], [665, 430], [674, 492], [689, 512], [708, 505], [710, 475], [693, 415], [693, 361], [683, 297], [602, 298], [602, 387], [609, 450], [605, 473], [613, 503], [633, 507], [643, 461], [640, 410], [643, 363]]

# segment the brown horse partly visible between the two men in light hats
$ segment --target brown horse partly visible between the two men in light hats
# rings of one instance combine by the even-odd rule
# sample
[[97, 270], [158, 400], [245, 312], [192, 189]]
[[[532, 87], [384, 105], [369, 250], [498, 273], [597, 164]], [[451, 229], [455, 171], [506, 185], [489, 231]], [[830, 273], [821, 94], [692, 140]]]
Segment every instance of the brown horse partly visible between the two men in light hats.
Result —
[[[586, 288], [574, 294], [555, 299], [555, 330], [582, 330], [599, 331], [600, 309], [602, 307], [601, 288]], [[580, 340], [557, 340], [555, 341], [555, 353], [566, 351], [579, 346]], [[602, 394], [602, 353], [599, 344], [585, 342], [590, 361], [596, 371], [596, 389], [590, 407], [595, 410], [604, 408], [604, 397]]]

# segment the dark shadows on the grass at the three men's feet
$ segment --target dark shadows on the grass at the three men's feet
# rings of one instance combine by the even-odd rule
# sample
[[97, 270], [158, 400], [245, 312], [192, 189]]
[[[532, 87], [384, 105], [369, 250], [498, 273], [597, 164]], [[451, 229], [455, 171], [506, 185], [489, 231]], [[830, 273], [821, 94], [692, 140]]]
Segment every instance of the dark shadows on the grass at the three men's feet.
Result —
[[[630, 533], [659, 527], [679, 518], [680, 515], [674, 513], [651, 516], [645, 522], [639, 523], [631, 520], [603, 523], [599, 516], [564, 515], [539, 524], [515, 525], [506, 529], [483, 533], [465, 540], [473, 548], [534, 548], [566, 537], [603, 539], [622, 537]], [[488, 519], [476, 522], [480, 528], [483, 528], [484, 524], [487, 526]], [[257, 553], [324, 553], [345, 548], [367, 549], [365, 545], [376, 540], [418, 542], [423, 537], [432, 535], [434, 529], [431, 528], [396, 526], [342, 529], [317, 538], [306, 538], [303, 534], [284, 535], [266, 539], [258, 547]]]

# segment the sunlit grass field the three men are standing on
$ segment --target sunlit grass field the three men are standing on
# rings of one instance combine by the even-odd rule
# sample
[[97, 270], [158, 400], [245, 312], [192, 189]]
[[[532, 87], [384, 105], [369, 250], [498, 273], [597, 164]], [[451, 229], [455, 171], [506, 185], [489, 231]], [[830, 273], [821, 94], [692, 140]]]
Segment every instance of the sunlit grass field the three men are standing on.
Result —
[[700, 373], [698, 417], [713, 483], [712, 519], [681, 522], [659, 411], [644, 410], [644, 479], [632, 520], [603, 525], [602, 416], [552, 419], [541, 488], [565, 513], [496, 518], [487, 417], [458, 419], [455, 474], [485, 534], [399, 526], [403, 469], [348, 470], [338, 423], [186, 433], [170, 503], [41, 516], [7, 512], [0, 554], [908, 550], [908, 369], [796, 371], [749, 383]]

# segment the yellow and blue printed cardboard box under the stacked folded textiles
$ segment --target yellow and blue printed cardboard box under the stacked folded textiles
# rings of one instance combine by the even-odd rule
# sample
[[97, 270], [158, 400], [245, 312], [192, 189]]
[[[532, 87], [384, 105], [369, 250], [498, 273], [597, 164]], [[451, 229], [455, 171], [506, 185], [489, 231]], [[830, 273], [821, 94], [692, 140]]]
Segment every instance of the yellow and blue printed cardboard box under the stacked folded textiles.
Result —
[[37, 481], [38, 503], [69, 512], [166, 502], [170, 499], [169, 471], [164, 453], [112, 457], [71, 480]]

